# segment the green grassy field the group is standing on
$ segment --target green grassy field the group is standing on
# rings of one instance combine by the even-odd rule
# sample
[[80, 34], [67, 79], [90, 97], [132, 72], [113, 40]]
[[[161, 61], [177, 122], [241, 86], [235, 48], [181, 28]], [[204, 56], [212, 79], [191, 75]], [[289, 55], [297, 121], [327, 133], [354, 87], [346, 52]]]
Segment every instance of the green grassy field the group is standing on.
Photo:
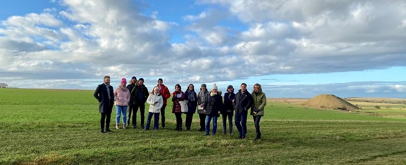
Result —
[[268, 102], [254, 142], [250, 116], [247, 139], [221, 135], [221, 120], [206, 137], [197, 114], [173, 131], [170, 107], [165, 130], [100, 134], [91, 90], [0, 89], [0, 164], [406, 164], [404, 116]]

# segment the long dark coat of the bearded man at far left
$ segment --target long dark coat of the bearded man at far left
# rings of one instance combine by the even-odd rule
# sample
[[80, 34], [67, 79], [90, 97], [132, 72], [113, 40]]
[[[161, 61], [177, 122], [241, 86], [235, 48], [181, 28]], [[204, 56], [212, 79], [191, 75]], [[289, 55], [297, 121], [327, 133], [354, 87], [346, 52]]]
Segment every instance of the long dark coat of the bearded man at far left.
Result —
[[[107, 90], [110, 90], [110, 99]], [[109, 89], [106, 88], [104, 83], [97, 85], [93, 96], [99, 102], [100, 113], [111, 113], [114, 104], [114, 91], [111, 85], [109, 86]]]

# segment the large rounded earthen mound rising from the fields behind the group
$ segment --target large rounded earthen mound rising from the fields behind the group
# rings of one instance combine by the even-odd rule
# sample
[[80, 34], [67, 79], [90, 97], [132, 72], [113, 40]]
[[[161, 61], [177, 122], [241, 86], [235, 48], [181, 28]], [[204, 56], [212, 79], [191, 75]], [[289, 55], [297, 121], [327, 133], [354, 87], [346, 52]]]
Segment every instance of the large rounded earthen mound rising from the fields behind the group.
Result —
[[357, 106], [339, 98], [334, 95], [318, 95], [306, 102], [300, 104], [302, 106], [339, 109], [339, 110], [353, 110], [359, 109]]

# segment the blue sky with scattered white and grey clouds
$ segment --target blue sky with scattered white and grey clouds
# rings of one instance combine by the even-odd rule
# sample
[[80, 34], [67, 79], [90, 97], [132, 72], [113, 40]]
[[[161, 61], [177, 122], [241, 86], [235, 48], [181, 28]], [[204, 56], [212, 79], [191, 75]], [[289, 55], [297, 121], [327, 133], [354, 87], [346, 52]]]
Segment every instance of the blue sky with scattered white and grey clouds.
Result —
[[[24, 4], [24, 5], [23, 5]], [[404, 0], [14, 0], [0, 3], [0, 82], [95, 89], [103, 77], [268, 98], [406, 98]]]

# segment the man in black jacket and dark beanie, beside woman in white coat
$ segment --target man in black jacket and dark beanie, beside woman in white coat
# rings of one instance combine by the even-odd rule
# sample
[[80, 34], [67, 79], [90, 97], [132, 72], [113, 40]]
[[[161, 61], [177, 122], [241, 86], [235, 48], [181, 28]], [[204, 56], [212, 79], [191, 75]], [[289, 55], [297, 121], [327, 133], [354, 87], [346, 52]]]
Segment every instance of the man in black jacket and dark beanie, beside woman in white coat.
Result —
[[132, 115], [133, 128], [137, 128], [137, 111], [139, 107], [139, 113], [141, 115], [141, 129], [144, 129], [145, 120], [145, 102], [147, 102], [149, 96], [148, 88], [144, 85], [144, 79], [139, 78], [137, 85], [131, 90], [131, 101], [134, 104], [134, 112]]

